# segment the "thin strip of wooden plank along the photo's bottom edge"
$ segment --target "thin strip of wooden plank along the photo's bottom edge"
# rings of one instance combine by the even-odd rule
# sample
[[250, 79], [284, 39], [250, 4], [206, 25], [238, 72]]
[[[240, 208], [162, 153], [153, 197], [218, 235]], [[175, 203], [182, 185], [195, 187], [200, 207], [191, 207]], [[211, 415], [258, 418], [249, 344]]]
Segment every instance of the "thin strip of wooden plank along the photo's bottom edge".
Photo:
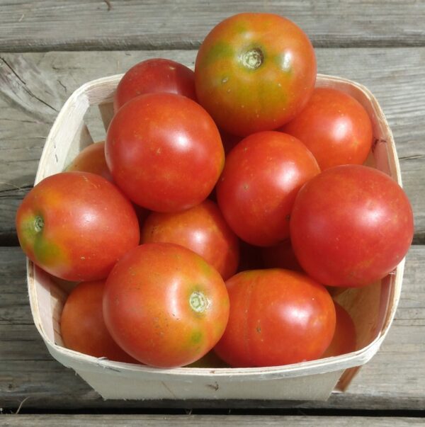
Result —
[[414, 417], [270, 416], [270, 415], [6, 415], [1, 426], [423, 426]]

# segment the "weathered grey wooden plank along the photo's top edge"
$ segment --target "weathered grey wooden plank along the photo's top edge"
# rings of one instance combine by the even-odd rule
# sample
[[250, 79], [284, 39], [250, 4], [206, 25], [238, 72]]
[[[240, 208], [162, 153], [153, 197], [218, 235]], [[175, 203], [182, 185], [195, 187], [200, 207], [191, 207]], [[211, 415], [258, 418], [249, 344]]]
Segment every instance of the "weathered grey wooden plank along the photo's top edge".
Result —
[[416, 0], [0, 1], [0, 51], [191, 49], [245, 11], [278, 13], [316, 47], [424, 45]]

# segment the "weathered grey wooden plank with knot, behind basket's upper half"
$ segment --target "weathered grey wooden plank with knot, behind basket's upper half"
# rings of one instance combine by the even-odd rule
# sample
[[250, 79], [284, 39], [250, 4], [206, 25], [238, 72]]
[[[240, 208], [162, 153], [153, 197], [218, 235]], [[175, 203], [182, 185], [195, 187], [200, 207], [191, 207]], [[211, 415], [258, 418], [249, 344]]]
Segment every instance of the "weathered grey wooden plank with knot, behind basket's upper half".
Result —
[[[196, 51], [0, 54], [0, 241], [16, 244], [16, 209], [33, 184], [45, 137], [66, 98], [86, 81], [125, 72], [150, 57], [193, 66]], [[319, 72], [356, 80], [378, 97], [414, 207], [415, 242], [425, 243], [425, 47], [317, 49], [317, 58]], [[89, 115], [89, 129], [95, 140], [105, 137], [97, 110]]]

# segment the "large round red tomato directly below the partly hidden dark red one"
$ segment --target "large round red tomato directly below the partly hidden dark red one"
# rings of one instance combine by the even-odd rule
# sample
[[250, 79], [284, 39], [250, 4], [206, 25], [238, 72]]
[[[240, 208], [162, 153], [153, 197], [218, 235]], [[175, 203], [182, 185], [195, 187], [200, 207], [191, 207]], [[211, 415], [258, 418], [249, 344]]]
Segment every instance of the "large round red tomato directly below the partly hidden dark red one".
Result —
[[174, 93], [128, 101], [109, 125], [105, 152], [115, 183], [137, 205], [158, 212], [205, 200], [225, 159], [210, 115]]

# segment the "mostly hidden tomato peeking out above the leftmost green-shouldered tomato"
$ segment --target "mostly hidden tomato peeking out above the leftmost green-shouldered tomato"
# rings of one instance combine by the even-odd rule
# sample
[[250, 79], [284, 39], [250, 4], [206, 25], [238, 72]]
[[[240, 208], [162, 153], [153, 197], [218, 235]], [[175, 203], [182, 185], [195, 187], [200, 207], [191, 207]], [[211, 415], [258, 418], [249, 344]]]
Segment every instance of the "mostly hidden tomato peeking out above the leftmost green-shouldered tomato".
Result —
[[112, 182], [111, 172], [105, 159], [105, 142], [95, 142], [83, 149], [66, 170], [96, 173]]

